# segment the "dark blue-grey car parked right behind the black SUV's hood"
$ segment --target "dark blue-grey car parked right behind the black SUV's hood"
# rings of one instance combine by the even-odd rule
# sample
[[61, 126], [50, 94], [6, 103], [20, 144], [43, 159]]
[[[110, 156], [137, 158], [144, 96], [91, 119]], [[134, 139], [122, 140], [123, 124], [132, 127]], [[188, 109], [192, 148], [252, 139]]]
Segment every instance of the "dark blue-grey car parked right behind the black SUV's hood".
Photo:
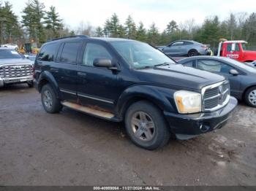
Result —
[[197, 56], [184, 58], [178, 63], [221, 74], [230, 80], [230, 93], [248, 106], [256, 107], [256, 68], [224, 57]]

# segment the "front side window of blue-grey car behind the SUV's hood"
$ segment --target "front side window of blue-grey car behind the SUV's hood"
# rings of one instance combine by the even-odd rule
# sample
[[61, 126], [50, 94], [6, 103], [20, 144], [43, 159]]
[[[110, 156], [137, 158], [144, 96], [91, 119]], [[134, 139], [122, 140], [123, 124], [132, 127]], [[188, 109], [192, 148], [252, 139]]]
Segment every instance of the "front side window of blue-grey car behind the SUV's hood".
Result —
[[214, 71], [214, 72], [222, 72], [222, 73], [228, 74], [230, 72], [230, 69], [233, 69], [233, 67], [219, 61], [199, 60], [197, 61], [197, 69]]

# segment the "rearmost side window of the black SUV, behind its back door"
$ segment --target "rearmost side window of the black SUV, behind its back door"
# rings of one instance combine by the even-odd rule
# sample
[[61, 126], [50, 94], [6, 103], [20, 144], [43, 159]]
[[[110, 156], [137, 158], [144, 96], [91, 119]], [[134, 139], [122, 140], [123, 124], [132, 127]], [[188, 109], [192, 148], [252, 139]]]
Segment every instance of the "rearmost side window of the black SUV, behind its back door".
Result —
[[54, 55], [56, 52], [57, 44], [46, 44], [42, 47], [42, 50], [39, 52], [38, 60], [39, 61], [53, 61]]

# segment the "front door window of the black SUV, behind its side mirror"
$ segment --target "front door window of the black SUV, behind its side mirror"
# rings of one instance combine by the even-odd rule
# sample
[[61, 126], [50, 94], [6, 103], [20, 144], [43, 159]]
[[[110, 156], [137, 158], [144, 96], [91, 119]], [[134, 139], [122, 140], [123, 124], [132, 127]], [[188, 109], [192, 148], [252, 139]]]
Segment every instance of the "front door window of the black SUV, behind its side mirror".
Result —
[[87, 43], [86, 50], [83, 55], [83, 65], [93, 66], [96, 58], [108, 58], [112, 60], [112, 57], [108, 50], [100, 44]]

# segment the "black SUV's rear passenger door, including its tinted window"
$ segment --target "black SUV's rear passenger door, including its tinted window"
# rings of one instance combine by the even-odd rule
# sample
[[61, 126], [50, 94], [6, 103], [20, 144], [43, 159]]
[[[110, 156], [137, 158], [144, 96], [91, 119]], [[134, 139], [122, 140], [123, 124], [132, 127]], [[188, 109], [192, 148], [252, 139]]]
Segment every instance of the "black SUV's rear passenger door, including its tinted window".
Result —
[[67, 101], [77, 99], [77, 59], [81, 46], [82, 42], [79, 41], [62, 43], [56, 59], [56, 67], [51, 68], [53, 74], [56, 74], [63, 98]]

